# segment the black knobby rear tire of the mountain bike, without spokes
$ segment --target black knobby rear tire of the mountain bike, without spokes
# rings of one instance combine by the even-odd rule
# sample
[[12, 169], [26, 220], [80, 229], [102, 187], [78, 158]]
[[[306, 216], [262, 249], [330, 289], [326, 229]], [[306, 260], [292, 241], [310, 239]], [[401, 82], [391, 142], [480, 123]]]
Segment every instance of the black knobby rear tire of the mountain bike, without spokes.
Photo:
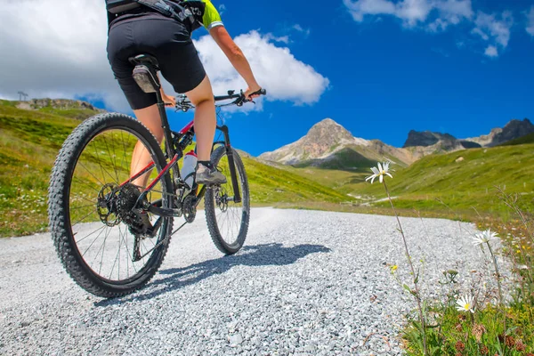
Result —
[[[50, 229], [52, 231], [53, 243], [61, 263], [78, 286], [84, 288], [87, 292], [93, 295], [106, 298], [130, 294], [149, 282], [156, 271], [158, 271], [159, 266], [165, 258], [170, 241], [169, 234], [173, 227], [173, 219], [165, 218], [158, 234], [158, 244], [160, 241], [163, 242], [159, 246], [152, 242], [155, 244], [155, 247], [148, 258], [147, 263], [134, 276], [125, 280], [102, 278], [99, 273], [93, 271], [78, 250], [77, 240], [74, 236], [76, 233], [73, 233], [69, 212], [69, 196], [73, 174], [75, 174], [78, 159], [80, 159], [83, 154], [85, 147], [88, 147], [89, 143], [97, 135], [107, 133], [112, 129], [124, 130], [127, 133], [133, 134], [139, 140], [138, 142], [142, 142], [146, 147], [150, 148], [152, 159], [156, 164], [158, 172], [162, 167], [166, 166], [166, 158], [158, 145], [158, 141], [146, 126], [142, 125], [141, 122], [135, 120], [133, 117], [123, 114], [101, 114], [90, 117], [81, 125], [78, 125], [63, 143], [53, 166], [48, 192]], [[126, 164], [128, 164], [127, 160]], [[82, 163], [80, 163], [80, 165], [82, 165]], [[126, 174], [129, 176], [129, 171]], [[170, 174], [165, 174], [162, 181], [160, 181], [161, 183], [158, 183], [162, 185], [163, 190], [173, 189], [169, 175]], [[172, 191], [167, 192], [172, 193]], [[165, 200], [163, 204], [172, 206], [172, 195], [162, 194], [162, 197], [167, 197], [163, 199]], [[89, 209], [91, 209], [91, 206]], [[106, 237], [106, 239], [108, 238]], [[104, 244], [105, 242], [106, 241], [104, 240]], [[122, 241], [119, 241], [119, 253], [120, 244], [122, 244]], [[156, 246], [158, 247], [156, 248]], [[102, 258], [103, 256], [104, 252], [102, 250]], [[118, 270], [120, 270], [120, 265]]]

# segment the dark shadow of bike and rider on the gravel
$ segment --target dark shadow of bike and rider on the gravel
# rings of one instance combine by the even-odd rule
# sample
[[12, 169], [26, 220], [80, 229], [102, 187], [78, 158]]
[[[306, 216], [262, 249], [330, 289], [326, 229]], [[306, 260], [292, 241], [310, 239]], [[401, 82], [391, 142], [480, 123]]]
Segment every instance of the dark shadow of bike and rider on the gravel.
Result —
[[[126, 295], [122, 298], [105, 299], [95, 306], [109, 306], [134, 300], [151, 299], [155, 296], [187, 287], [202, 279], [215, 274], [229, 271], [233, 266], [283, 266], [292, 264], [299, 259], [316, 253], [328, 253], [328, 247], [320, 245], [298, 245], [295, 247], [283, 247], [280, 243], [262, 244], [243, 247], [236, 255], [225, 255], [214, 260], [191, 264], [183, 268], [171, 268], [159, 271], [160, 275], [166, 276], [149, 284], [150, 292], [138, 292], [135, 295]], [[153, 288], [158, 286], [155, 290]]]

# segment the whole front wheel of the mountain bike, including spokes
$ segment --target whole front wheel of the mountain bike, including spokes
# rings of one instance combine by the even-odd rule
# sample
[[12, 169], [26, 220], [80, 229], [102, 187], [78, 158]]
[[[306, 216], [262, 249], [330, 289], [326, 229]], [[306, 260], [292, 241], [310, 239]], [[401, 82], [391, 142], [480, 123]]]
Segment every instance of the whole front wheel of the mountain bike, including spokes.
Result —
[[225, 147], [214, 150], [211, 160], [221, 169], [227, 182], [220, 187], [206, 190], [206, 221], [215, 247], [223, 254], [233, 255], [239, 251], [247, 238], [250, 220], [250, 194], [247, 173], [243, 161], [236, 150], [230, 149], [234, 161], [234, 171], [239, 188], [240, 201], [236, 202], [236, 192], [231, 179], [230, 159]]

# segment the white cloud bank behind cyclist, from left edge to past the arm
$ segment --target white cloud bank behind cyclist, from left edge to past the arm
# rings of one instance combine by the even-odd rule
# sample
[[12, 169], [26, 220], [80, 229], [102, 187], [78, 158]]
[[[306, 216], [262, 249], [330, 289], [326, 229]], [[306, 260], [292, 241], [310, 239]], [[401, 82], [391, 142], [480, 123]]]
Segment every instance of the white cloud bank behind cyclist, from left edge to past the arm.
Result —
[[[31, 98], [91, 97], [103, 100], [109, 109], [129, 110], [109, 67], [108, 24], [102, 2], [4, 1], [0, 23], [0, 97], [15, 100], [22, 90]], [[288, 48], [277, 47], [258, 33], [238, 39], [260, 83], [271, 89], [270, 100], [312, 103], [326, 90], [328, 79], [297, 61]], [[220, 49], [217, 53], [213, 44], [207, 44], [203, 51], [218, 89], [243, 86]], [[210, 61], [214, 58], [218, 62]], [[222, 85], [225, 83], [229, 86]], [[172, 93], [170, 85], [164, 85]]]

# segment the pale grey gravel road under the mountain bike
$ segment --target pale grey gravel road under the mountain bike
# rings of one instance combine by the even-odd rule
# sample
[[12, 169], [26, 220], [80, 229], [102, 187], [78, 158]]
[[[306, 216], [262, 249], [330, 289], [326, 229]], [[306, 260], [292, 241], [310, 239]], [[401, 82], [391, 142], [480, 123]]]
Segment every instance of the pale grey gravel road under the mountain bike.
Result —
[[[148, 287], [105, 300], [69, 279], [50, 234], [0, 239], [0, 354], [400, 354], [414, 303], [394, 217], [255, 208], [246, 246], [223, 256], [202, 212]], [[487, 271], [471, 224], [402, 218], [425, 295], [441, 272]]]

